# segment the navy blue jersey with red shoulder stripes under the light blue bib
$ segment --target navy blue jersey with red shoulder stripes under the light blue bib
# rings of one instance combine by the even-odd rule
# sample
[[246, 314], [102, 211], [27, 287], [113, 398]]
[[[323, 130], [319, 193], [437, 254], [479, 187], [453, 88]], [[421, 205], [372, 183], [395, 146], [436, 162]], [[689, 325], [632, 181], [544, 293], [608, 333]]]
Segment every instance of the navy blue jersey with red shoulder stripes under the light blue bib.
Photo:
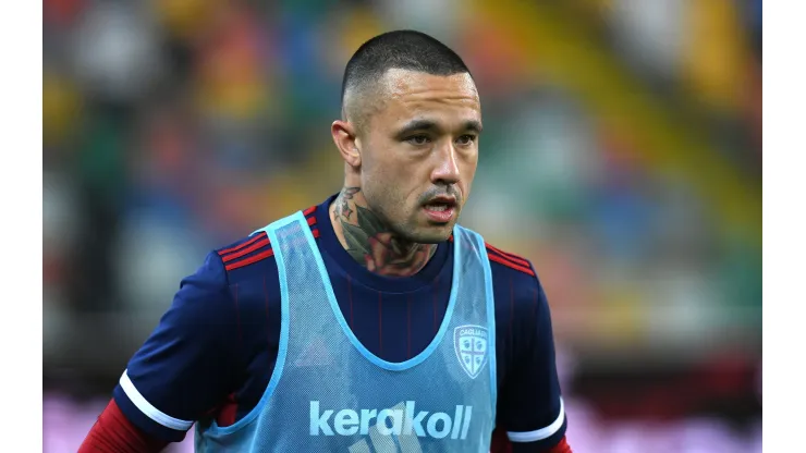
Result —
[[[425, 350], [445, 313], [453, 242], [417, 274], [390, 278], [357, 264], [330, 223], [329, 197], [304, 211], [349, 327], [373, 354], [404, 362]], [[554, 445], [565, 415], [548, 301], [532, 264], [487, 246], [496, 304], [497, 426], [534, 451]], [[271, 244], [256, 233], [210, 253], [185, 278], [157, 329], [132, 357], [114, 400], [137, 427], [180, 441], [194, 421], [232, 425], [269, 383], [280, 336]]]

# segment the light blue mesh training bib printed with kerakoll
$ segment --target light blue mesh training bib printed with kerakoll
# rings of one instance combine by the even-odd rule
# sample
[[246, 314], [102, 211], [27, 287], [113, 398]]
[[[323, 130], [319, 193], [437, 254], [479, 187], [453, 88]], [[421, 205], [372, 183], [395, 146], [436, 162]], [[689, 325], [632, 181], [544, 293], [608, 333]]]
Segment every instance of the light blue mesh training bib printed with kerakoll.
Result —
[[390, 363], [350, 330], [302, 212], [264, 229], [280, 273], [273, 375], [229, 427], [197, 426], [203, 452], [488, 452], [496, 415], [496, 332], [481, 236], [454, 228], [445, 317], [417, 356]]

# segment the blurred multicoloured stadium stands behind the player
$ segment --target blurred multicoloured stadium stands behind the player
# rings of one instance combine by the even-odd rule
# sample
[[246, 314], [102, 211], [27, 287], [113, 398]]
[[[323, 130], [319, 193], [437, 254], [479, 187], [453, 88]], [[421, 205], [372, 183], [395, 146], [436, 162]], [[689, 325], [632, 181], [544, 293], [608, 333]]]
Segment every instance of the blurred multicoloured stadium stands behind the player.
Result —
[[44, 13], [46, 452], [76, 450], [209, 249], [338, 191], [344, 64], [392, 28], [474, 72], [463, 222], [535, 262], [574, 451], [761, 451], [760, 0]]

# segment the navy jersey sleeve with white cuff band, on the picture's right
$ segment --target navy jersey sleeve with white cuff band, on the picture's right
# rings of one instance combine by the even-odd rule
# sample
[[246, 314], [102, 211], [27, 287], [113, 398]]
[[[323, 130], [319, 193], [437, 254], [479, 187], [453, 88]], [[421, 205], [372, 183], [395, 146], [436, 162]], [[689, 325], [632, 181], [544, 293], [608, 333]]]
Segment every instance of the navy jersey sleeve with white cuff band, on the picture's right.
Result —
[[513, 452], [550, 451], [564, 438], [566, 420], [549, 303], [537, 277], [514, 287], [512, 297], [512, 354], [498, 420]]

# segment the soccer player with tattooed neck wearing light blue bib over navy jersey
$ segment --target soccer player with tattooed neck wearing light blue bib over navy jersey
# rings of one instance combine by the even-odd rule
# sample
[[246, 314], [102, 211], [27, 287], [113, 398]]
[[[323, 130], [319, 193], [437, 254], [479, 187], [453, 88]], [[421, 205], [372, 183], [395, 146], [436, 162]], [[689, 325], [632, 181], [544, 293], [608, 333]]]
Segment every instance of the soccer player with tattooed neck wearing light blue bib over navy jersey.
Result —
[[570, 452], [535, 268], [457, 224], [481, 130], [451, 49], [365, 42], [331, 125], [344, 187], [182, 281], [81, 452], [194, 423], [202, 452]]

